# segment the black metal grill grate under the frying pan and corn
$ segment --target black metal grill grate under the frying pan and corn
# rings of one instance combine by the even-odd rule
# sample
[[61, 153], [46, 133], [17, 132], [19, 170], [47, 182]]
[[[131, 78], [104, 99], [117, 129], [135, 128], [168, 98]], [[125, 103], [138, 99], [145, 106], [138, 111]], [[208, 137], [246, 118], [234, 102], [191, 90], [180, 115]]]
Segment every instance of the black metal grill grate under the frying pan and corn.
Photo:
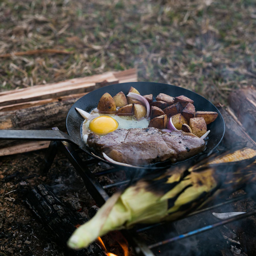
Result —
[[[48, 151], [45, 155], [45, 162], [44, 162], [44, 165], [42, 166], [41, 172], [48, 171], [48, 169], [54, 159], [54, 156], [56, 155], [57, 150], [59, 150], [59, 149], [67, 156], [69, 161], [75, 167], [76, 172], [82, 177], [88, 192], [94, 198], [94, 200], [98, 204], [98, 206], [101, 206], [109, 198], [108, 193], [106, 192], [106, 189], [109, 189], [112, 187], [120, 187], [121, 185], [127, 185], [131, 181], [130, 174], [127, 173], [128, 178], [126, 180], [121, 180], [121, 181], [115, 182], [114, 184], [108, 184], [108, 185], [102, 186], [97, 179], [99, 176], [108, 175], [108, 174], [112, 174], [115, 172], [120, 172], [123, 169], [109, 166], [107, 169], [105, 169], [101, 172], [92, 173], [89, 169], [89, 166], [91, 164], [95, 164], [95, 163], [99, 162], [99, 160], [98, 159], [89, 159], [86, 161], [82, 161], [82, 159], [79, 157], [77, 149], [74, 149], [74, 147], [71, 146], [71, 144], [69, 144], [68, 142], [65, 142], [65, 141], [61, 141], [61, 142], [60, 141], [58, 141], [58, 142], [52, 141], [50, 143]], [[217, 208], [217, 207], [224, 206], [226, 204], [234, 203], [238, 200], [242, 200], [247, 197], [248, 197], [248, 195], [238, 196], [236, 198], [216, 204], [215, 206], [208, 207], [208, 208], [205, 208], [205, 209], [197, 211], [197, 212], [193, 212], [193, 214], [189, 215], [186, 218], [193, 217], [198, 214], [202, 214], [203, 212], [212, 210], [213, 208]], [[211, 223], [211, 224], [205, 224], [203, 226], [193, 228], [191, 231], [185, 231], [184, 233], [181, 233], [181, 234], [170, 233], [167, 236], [165, 234], [164, 236], [159, 236], [160, 240], [158, 240], [158, 241], [155, 241], [156, 237], [154, 237], [154, 241], [153, 242], [151, 241], [150, 243], [145, 243], [141, 239], [140, 235], [143, 234], [144, 232], [148, 232], [148, 231], [149, 231], [149, 233], [151, 231], [151, 233], [157, 233], [157, 234], [166, 233], [165, 232], [167, 229], [166, 223], [164, 223], [164, 224], [158, 223], [155, 225], [143, 226], [143, 227], [139, 227], [139, 228], [133, 229], [133, 230], [124, 230], [123, 234], [127, 238], [128, 242], [133, 246], [136, 255], [144, 255], [144, 256], [154, 256], [157, 254], [162, 255], [162, 253], [161, 253], [162, 246], [166, 246], [167, 244], [172, 244], [172, 242], [177, 242], [184, 238], [195, 236], [204, 231], [210, 231], [212, 229], [215, 229], [216, 227], [220, 227], [227, 223], [238, 221], [242, 218], [246, 218], [246, 217], [249, 217], [249, 216], [252, 216], [255, 214], [256, 214], [256, 209], [246, 212], [245, 214], [237, 215], [236, 217], [231, 217], [229, 219], [225, 219], [225, 220], [218, 221], [218, 222]], [[169, 224], [167, 224], [167, 226], [168, 226], [168, 229], [172, 229], [172, 228], [175, 229], [173, 223], [169, 223]], [[158, 229], [158, 231], [155, 232], [155, 229]], [[159, 231], [159, 230], [163, 230], [163, 232]], [[172, 248], [172, 246], [170, 245], [168, 248]], [[174, 248], [175, 248], [175, 246], [174, 246]], [[166, 255], [169, 255], [169, 254], [166, 254]], [[172, 255], [174, 255], [174, 254], [172, 254]], [[179, 254], [177, 254], [177, 255], [179, 255]]]

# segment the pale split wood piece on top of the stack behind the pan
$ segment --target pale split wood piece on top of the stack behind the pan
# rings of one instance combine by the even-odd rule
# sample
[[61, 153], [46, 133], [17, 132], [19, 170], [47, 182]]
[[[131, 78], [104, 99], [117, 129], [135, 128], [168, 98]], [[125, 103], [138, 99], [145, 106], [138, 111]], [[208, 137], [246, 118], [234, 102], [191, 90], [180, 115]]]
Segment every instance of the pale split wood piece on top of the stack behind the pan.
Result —
[[85, 93], [108, 84], [137, 81], [136, 69], [118, 72], [106, 72], [101, 75], [74, 78], [63, 82], [42, 84], [18, 90], [0, 93], [0, 106], [36, 101], [39, 99], [56, 98], [63, 95]]

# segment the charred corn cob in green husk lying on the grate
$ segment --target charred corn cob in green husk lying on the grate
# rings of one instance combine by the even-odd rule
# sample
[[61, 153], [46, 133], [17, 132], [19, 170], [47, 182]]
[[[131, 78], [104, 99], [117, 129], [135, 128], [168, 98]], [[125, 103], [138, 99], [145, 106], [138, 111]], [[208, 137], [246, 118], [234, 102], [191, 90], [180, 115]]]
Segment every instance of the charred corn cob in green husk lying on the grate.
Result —
[[151, 174], [115, 193], [90, 221], [74, 231], [68, 246], [87, 247], [98, 236], [136, 223], [177, 220], [256, 180], [255, 150], [246, 148], [225, 155], [228, 158], [204, 160], [188, 170], [174, 168]]

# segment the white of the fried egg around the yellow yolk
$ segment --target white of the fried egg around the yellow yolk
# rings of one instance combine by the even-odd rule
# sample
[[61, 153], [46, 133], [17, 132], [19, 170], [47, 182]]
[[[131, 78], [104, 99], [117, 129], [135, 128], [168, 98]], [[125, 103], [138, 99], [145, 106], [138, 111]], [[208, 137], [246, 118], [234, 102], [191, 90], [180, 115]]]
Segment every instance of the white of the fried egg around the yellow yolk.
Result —
[[[115, 114], [105, 114], [105, 113], [100, 114], [97, 112], [97, 110], [93, 110], [91, 114], [93, 114], [94, 118], [98, 116], [111, 116], [118, 123], [117, 129], [147, 128], [149, 124], [149, 120], [147, 118], [142, 118], [140, 120], [137, 120], [133, 116], [116, 116]], [[89, 120], [85, 119], [82, 124], [82, 138], [85, 143], [87, 142], [88, 134], [92, 132], [89, 128], [89, 124], [91, 120], [92, 119], [89, 119]]]

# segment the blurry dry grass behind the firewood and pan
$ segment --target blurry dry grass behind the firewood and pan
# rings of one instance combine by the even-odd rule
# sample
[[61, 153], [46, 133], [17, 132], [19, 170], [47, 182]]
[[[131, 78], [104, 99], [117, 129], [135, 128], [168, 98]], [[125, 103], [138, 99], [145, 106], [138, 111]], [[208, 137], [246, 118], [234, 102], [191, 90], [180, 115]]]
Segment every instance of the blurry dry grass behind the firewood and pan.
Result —
[[253, 0], [3, 0], [0, 90], [137, 67], [223, 102], [256, 85], [255, 33]]

